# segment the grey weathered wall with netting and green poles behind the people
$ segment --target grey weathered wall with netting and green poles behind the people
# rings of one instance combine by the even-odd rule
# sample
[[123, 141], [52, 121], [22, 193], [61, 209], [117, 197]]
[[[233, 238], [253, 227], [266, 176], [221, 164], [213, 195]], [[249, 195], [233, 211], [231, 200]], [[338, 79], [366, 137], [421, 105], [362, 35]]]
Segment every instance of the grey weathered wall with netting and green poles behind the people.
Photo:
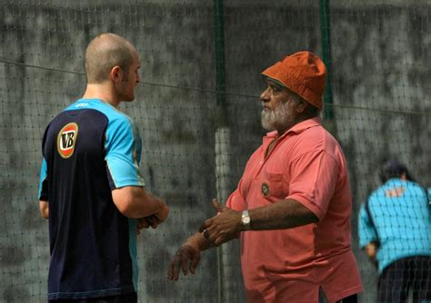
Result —
[[195, 276], [174, 283], [165, 271], [265, 134], [261, 72], [299, 50], [328, 67], [322, 116], [346, 153], [360, 302], [376, 301], [357, 212], [387, 158], [431, 186], [430, 15], [429, 0], [0, 0], [0, 302], [46, 301], [42, 135], [84, 93], [86, 44], [105, 32], [141, 56], [136, 100], [121, 110], [141, 133], [147, 189], [171, 210], [139, 236], [139, 302], [246, 301], [238, 241], [205, 251]]

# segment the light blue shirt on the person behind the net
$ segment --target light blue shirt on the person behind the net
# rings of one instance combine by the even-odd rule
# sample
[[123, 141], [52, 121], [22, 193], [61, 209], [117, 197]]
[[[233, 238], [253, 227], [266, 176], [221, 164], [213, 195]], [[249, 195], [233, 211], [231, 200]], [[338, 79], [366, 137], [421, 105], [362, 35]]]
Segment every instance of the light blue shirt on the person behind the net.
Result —
[[412, 181], [390, 179], [368, 198], [373, 227], [361, 205], [358, 218], [359, 246], [379, 240], [378, 272], [397, 259], [431, 256], [431, 218], [427, 192]]

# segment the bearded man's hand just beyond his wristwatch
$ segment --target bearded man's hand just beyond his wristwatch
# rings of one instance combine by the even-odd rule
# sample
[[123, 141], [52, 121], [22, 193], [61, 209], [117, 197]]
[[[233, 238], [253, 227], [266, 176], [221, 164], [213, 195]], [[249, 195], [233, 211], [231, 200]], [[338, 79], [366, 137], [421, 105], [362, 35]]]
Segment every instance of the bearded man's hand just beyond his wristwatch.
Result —
[[214, 207], [218, 214], [208, 220], [199, 229], [204, 233], [205, 239], [209, 240], [214, 246], [219, 246], [237, 237], [241, 231], [241, 213], [236, 210], [220, 205], [216, 199], [213, 200]]

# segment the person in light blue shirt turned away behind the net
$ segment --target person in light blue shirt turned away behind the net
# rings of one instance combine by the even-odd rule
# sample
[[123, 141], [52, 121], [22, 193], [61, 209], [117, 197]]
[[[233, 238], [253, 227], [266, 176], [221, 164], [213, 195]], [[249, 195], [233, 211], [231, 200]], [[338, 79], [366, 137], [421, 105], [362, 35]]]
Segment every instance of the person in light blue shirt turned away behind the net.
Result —
[[378, 302], [431, 300], [431, 218], [428, 193], [406, 165], [390, 160], [383, 183], [361, 205], [359, 246], [378, 268]]

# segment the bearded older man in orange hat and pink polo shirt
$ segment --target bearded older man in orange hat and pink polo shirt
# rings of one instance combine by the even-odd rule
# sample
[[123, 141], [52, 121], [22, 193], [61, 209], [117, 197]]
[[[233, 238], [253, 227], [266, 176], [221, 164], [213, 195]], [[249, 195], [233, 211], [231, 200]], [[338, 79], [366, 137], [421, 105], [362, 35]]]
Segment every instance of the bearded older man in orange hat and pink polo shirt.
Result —
[[310, 52], [263, 72], [262, 124], [269, 132], [219, 214], [178, 249], [168, 279], [192, 273], [200, 251], [241, 240], [248, 302], [356, 302], [362, 291], [350, 247], [345, 156], [321, 126], [325, 64]]

